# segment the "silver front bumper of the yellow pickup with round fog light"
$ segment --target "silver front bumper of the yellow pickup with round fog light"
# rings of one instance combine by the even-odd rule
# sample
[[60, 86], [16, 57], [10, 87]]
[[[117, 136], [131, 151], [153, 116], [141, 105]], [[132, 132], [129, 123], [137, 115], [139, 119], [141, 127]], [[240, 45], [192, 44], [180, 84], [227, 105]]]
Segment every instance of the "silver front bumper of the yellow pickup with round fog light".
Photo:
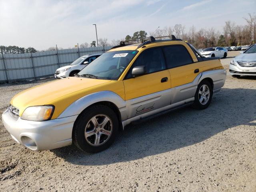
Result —
[[48, 121], [13, 118], [8, 110], [2, 114], [4, 127], [19, 144], [34, 150], [50, 150], [72, 144], [72, 129], [78, 115]]

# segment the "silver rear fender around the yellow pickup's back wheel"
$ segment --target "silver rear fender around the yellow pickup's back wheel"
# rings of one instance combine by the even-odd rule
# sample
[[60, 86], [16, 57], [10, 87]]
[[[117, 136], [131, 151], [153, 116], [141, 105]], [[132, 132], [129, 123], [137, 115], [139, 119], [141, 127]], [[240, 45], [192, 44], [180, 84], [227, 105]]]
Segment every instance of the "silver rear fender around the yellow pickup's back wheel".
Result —
[[211, 78], [213, 81], [213, 92], [218, 92], [222, 88], [226, 80], [226, 70], [210, 70], [202, 72], [198, 84], [205, 78]]

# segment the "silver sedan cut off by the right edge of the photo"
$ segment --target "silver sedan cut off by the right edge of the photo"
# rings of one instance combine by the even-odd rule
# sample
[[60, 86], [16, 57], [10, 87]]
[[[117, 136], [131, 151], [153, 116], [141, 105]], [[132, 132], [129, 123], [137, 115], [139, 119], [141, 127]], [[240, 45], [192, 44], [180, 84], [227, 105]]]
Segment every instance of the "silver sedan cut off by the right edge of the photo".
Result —
[[256, 44], [241, 51], [242, 54], [236, 56], [229, 65], [229, 72], [233, 77], [241, 75], [256, 76]]

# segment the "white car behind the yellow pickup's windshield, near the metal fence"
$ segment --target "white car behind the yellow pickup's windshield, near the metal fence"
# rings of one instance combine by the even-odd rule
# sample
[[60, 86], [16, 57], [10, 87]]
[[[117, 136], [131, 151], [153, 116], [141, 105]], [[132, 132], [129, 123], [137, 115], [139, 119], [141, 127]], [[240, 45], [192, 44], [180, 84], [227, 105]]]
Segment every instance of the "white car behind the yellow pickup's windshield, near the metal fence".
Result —
[[58, 68], [54, 74], [54, 77], [56, 79], [62, 79], [66, 77], [73, 77], [80, 70], [82, 70], [85, 66], [90, 64], [93, 60], [98, 58], [101, 54], [91, 54], [91, 55], [84, 55], [74, 62], [72, 62], [70, 65]]

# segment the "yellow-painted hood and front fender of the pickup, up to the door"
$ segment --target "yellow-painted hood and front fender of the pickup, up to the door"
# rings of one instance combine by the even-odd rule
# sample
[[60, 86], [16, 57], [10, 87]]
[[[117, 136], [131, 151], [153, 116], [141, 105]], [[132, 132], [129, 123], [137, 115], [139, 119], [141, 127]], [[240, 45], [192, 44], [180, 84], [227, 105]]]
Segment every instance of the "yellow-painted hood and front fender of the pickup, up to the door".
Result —
[[14, 96], [11, 104], [20, 110], [20, 116], [29, 106], [54, 105], [52, 119], [57, 118], [79, 98], [102, 90], [110, 90], [124, 99], [122, 81], [69, 77], [44, 83]]

